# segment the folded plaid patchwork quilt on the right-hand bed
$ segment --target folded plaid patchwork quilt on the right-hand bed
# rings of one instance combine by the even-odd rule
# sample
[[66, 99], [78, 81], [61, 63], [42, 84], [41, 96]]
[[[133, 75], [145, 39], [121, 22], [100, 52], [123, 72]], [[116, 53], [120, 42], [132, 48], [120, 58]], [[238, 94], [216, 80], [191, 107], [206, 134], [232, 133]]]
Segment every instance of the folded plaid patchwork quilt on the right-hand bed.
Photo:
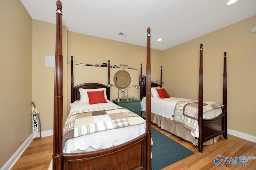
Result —
[[[203, 114], [217, 108], [224, 107], [223, 104], [216, 102], [203, 101]], [[191, 131], [196, 131], [198, 124], [198, 100], [178, 102], [174, 109], [174, 119], [176, 123], [184, 125]]]

